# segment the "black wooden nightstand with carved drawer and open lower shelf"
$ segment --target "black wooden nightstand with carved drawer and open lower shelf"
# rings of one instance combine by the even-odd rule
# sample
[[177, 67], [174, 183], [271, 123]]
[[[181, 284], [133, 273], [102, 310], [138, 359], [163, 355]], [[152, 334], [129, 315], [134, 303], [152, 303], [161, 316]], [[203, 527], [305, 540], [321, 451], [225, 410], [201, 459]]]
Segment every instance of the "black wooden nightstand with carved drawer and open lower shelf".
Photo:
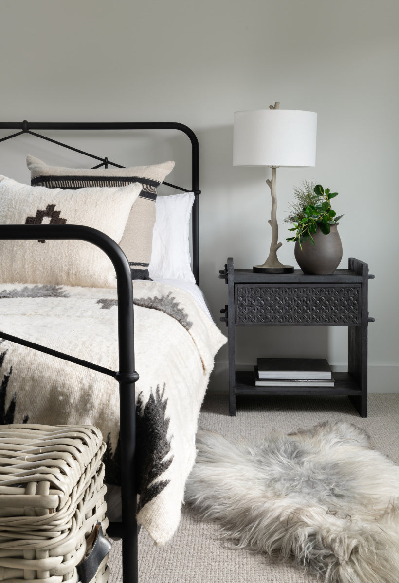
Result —
[[[347, 395], [367, 417], [367, 324], [374, 321], [367, 312], [367, 280], [374, 276], [358, 259], [349, 259], [348, 267], [322, 276], [300, 269], [255, 273], [234, 269], [233, 258], [227, 259], [219, 275], [228, 286], [220, 319], [228, 326], [231, 416], [236, 395]], [[235, 370], [235, 326], [347, 326], [348, 371], [334, 372], [334, 387], [255, 387], [254, 373]]]

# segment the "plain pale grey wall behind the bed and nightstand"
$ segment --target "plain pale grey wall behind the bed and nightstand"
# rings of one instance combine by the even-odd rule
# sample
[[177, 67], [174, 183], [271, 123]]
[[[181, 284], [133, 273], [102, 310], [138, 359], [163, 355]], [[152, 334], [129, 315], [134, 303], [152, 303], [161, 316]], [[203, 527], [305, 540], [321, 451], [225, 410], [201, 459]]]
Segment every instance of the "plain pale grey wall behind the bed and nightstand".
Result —
[[[280, 240], [289, 235], [282, 218], [293, 184], [315, 178], [339, 192], [341, 266], [356, 257], [376, 276], [369, 285], [376, 318], [369, 326], [369, 388], [399, 391], [398, 17], [396, 0], [0, 0], [0, 116], [192, 127], [200, 142], [202, 287], [218, 318], [226, 287], [217, 274], [226, 258], [250, 268], [265, 260], [270, 244], [265, 171], [231, 164], [233, 112], [275, 101], [316, 111], [317, 166], [277, 171]], [[27, 180], [30, 142], [18, 139], [12, 152], [19, 151], [20, 168], [13, 163], [11, 170]], [[175, 142], [166, 141], [156, 160], [140, 162], [169, 157]], [[29, 152], [53, 161], [40, 148]], [[186, 156], [185, 147], [177, 153]], [[0, 156], [0, 171], [9, 173], [2, 150]], [[284, 244], [279, 258], [292, 264], [293, 245]], [[346, 363], [346, 329], [239, 332], [242, 364], [266, 353]], [[227, 388], [226, 361], [223, 349], [214, 390]]]

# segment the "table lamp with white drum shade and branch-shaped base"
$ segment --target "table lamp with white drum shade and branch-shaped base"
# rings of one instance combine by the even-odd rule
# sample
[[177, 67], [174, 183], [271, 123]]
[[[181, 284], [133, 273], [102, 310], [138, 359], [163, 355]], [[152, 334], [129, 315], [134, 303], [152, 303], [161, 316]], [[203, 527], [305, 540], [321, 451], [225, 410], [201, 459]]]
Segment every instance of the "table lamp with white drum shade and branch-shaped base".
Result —
[[313, 111], [280, 110], [276, 101], [268, 110], [234, 113], [233, 166], [270, 166], [272, 180], [266, 180], [272, 195], [272, 227], [269, 256], [254, 271], [262, 273], [292, 272], [292, 265], [277, 259], [279, 227], [277, 225], [276, 168], [278, 166], [315, 166], [317, 114]]

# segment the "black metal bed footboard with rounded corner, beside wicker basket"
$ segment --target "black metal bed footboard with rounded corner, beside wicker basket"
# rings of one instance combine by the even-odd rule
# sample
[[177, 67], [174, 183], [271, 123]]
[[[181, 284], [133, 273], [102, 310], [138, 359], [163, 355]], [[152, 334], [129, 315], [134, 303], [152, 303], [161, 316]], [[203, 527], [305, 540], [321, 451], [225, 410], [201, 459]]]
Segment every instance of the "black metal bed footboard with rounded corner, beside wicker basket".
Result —
[[110, 523], [109, 536], [122, 538], [123, 582], [137, 583], [137, 483], [134, 458], [136, 453], [136, 395], [134, 370], [133, 286], [130, 265], [122, 249], [105, 233], [80, 225], [1, 225], [0, 240], [81, 240], [99, 247], [110, 258], [117, 278], [117, 318], [119, 370], [112, 371], [68, 354], [35, 345], [0, 331], [0, 338], [53, 354], [81, 366], [112, 375], [119, 382], [122, 522]]

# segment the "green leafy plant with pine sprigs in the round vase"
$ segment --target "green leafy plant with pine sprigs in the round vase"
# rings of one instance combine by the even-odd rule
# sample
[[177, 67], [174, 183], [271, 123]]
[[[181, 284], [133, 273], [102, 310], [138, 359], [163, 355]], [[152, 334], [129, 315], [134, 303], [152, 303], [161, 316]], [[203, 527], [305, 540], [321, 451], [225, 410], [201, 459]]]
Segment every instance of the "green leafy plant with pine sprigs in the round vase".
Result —
[[331, 230], [331, 225], [337, 224], [344, 215], [336, 216], [335, 210], [331, 208], [331, 199], [335, 198], [338, 192], [330, 192], [329, 188], [322, 187], [321, 184], [314, 185], [312, 181], [303, 181], [301, 187], [294, 188], [296, 202], [290, 205], [291, 213], [284, 218], [284, 223], [293, 223], [294, 226], [289, 231], [296, 231], [294, 237], [287, 237], [287, 241], [298, 241], [300, 248], [304, 241], [315, 245], [312, 234], [320, 229], [325, 235]]

